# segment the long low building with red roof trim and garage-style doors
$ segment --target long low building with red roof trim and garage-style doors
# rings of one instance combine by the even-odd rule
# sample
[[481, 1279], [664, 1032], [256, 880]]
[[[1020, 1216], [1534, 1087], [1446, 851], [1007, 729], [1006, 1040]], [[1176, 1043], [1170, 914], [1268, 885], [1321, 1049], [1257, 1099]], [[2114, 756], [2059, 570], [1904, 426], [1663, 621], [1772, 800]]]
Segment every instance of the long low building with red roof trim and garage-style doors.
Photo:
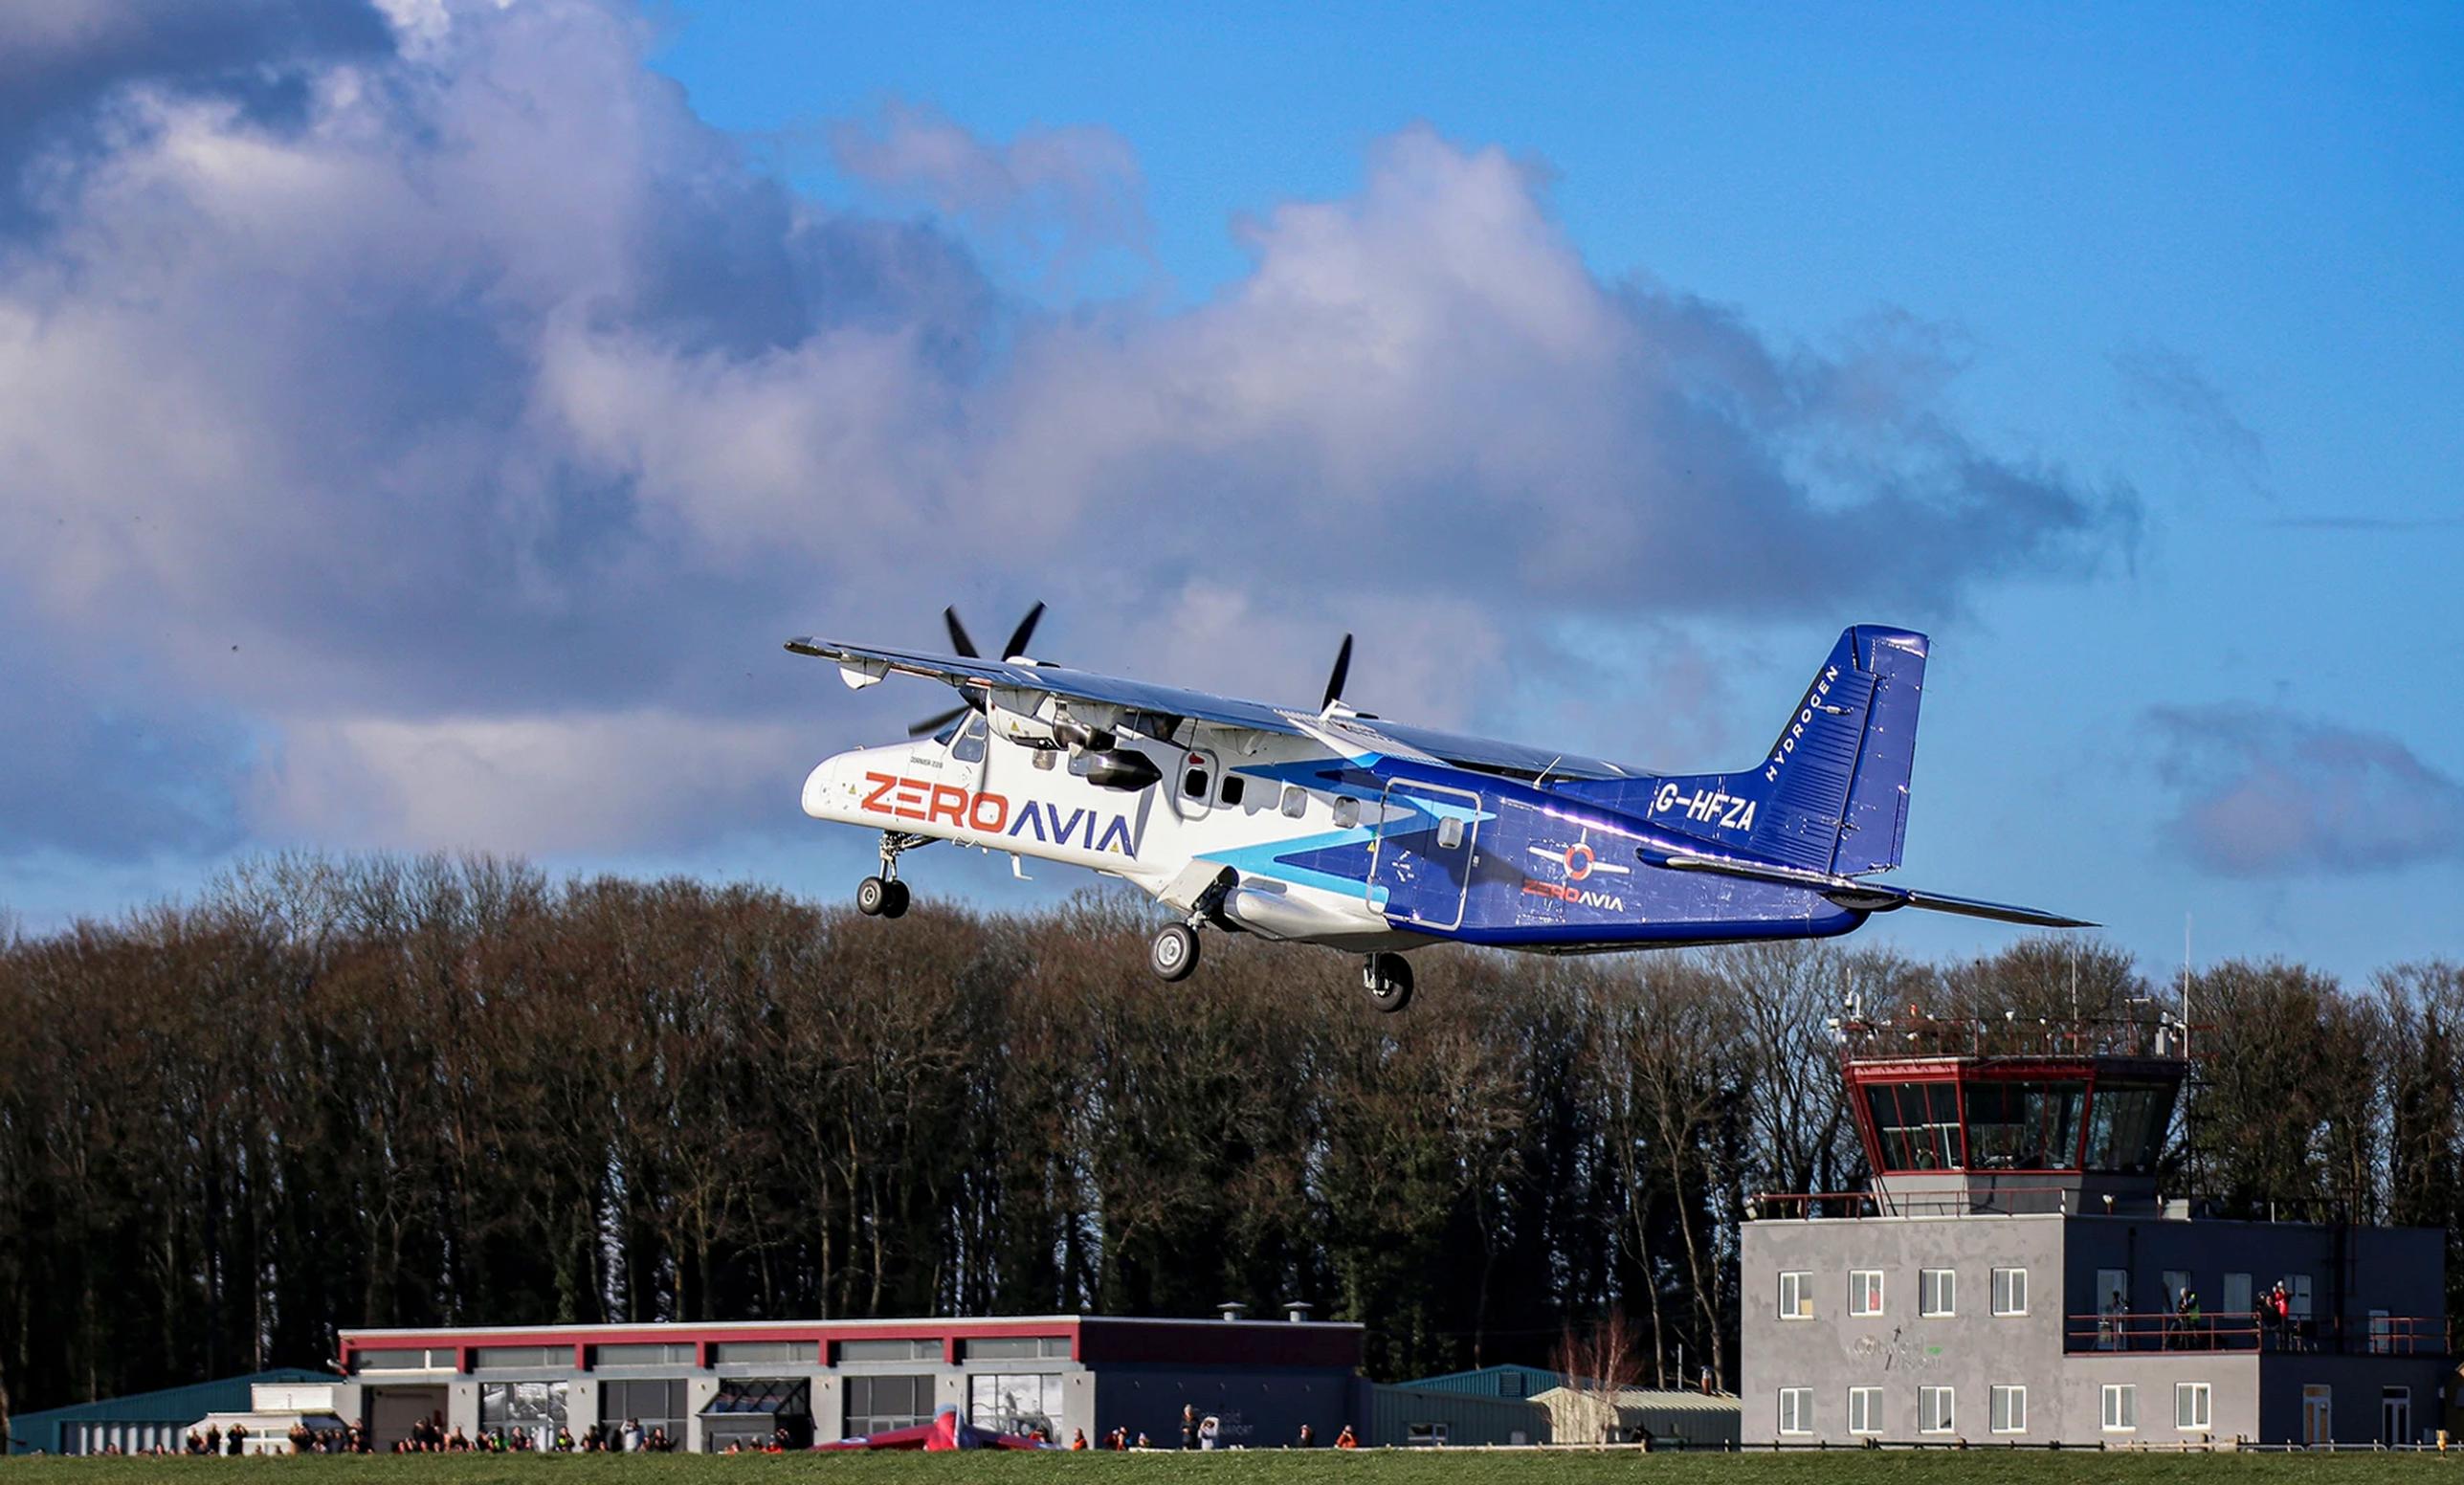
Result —
[[577, 1436], [594, 1423], [665, 1428], [685, 1451], [828, 1443], [929, 1423], [1111, 1428], [1178, 1448], [1180, 1409], [1222, 1421], [1225, 1446], [1276, 1448], [1301, 1423], [1333, 1443], [1368, 1428], [1360, 1325], [1291, 1320], [771, 1320], [749, 1325], [517, 1325], [345, 1330], [335, 1411], [377, 1448], [441, 1416], [446, 1431]]

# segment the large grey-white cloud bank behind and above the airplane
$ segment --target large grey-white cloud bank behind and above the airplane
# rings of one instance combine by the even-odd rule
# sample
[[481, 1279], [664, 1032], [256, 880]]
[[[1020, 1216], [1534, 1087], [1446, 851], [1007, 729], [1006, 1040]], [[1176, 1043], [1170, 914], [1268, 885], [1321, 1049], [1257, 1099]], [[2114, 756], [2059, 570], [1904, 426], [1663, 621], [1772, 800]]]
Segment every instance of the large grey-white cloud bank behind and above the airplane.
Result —
[[[1922, 618], [2129, 539], [2126, 493], [1949, 419], [1947, 337], [1814, 352], [1602, 278], [1503, 150], [1407, 131], [1358, 197], [1247, 222], [1215, 300], [1050, 313], [939, 227], [754, 172], [626, 10], [389, 10], [389, 47], [227, 27], [286, 47], [281, 106], [131, 49], [44, 94], [81, 133], [17, 140], [0, 581], [71, 707], [269, 739], [205, 749], [227, 773], [182, 798], [224, 818], [165, 813], [182, 840], [791, 827], [786, 729], [875, 712], [779, 638], [929, 640], [951, 598], [1291, 699], [1353, 628], [1360, 704], [1486, 726], [1574, 665], [1567, 626]], [[894, 111], [840, 148], [1040, 251], [1143, 231], [1101, 128]], [[5, 746], [67, 778], [79, 736], [108, 756]]]

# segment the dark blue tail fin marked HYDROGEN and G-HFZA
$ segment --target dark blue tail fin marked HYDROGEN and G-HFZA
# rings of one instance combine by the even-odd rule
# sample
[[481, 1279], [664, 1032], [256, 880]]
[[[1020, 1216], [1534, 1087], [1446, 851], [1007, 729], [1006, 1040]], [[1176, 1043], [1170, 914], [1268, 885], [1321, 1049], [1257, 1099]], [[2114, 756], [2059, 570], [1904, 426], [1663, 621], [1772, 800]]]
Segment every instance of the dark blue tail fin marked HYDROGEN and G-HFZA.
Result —
[[1791, 867], [1887, 872], [1907, 837], [1922, 692], [1924, 635], [1860, 623], [1752, 768], [1560, 788]]

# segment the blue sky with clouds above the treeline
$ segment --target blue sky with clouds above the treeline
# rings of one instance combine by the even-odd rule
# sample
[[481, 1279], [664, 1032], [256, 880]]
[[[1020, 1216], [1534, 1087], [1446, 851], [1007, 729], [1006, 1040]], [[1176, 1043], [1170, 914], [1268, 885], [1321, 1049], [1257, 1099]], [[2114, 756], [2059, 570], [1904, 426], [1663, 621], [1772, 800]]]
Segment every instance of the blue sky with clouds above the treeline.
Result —
[[1671, 768], [1924, 628], [1907, 882], [2457, 953], [2452, 7], [345, 10], [0, 22], [30, 926], [293, 845], [835, 894], [798, 761], [934, 697], [776, 638], [1042, 596]]

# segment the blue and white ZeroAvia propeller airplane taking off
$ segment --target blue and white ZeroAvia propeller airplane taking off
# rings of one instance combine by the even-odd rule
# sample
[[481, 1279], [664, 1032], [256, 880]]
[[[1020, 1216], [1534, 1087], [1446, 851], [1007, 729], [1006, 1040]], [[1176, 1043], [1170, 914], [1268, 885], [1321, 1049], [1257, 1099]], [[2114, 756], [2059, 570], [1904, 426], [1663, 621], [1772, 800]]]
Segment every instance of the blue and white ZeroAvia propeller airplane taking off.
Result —
[[855, 906], [907, 911], [899, 857], [922, 845], [1008, 852], [1131, 882], [1175, 921], [1148, 968], [1183, 980], [1200, 931], [1363, 956], [1370, 1005], [1412, 1000], [1404, 958], [1432, 943], [1609, 953], [1831, 938], [1873, 914], [1929, 909], [2092, 928], [2040, 909], [1875, 882], [1900, 864], [1927, 638], [1841, 633], [1779, 736], [1727, 773], [1648, 773], [1607, 759], [1459, 736], [1343, 699], [1343, 635], [1316, 709], [1121, 680], [1027, 655], [1045, 606], [976, 653], [796, 638], [870, 687], [914, 675], [961, 704], [909, 741], [823, 759], [803, 813], [882, 832]]

